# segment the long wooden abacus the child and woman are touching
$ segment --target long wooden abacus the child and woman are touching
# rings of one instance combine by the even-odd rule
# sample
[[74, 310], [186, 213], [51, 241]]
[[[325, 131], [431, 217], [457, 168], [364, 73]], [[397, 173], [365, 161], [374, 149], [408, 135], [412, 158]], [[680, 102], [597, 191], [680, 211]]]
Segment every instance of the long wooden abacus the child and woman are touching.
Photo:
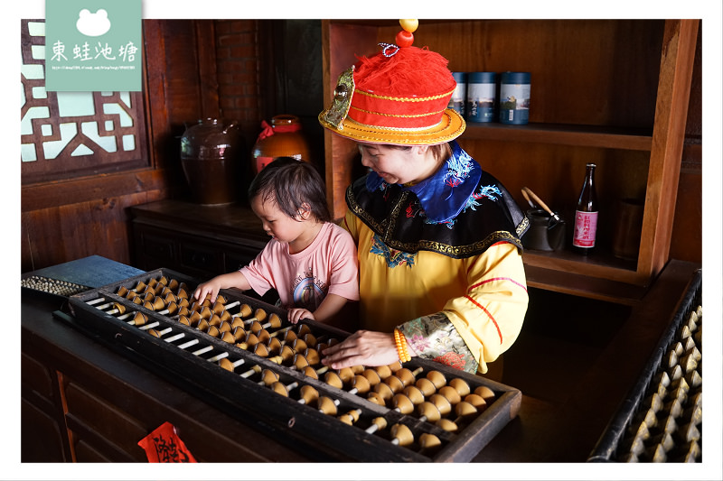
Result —
[[348, 336], [239, 291], [196, 301], [198, 282], [158, 269], [70, 297], [81, 328], [253, 421], [316, 461], [466, 462], [517, 416], [521, 392], [446, 365], [321, 364]]

